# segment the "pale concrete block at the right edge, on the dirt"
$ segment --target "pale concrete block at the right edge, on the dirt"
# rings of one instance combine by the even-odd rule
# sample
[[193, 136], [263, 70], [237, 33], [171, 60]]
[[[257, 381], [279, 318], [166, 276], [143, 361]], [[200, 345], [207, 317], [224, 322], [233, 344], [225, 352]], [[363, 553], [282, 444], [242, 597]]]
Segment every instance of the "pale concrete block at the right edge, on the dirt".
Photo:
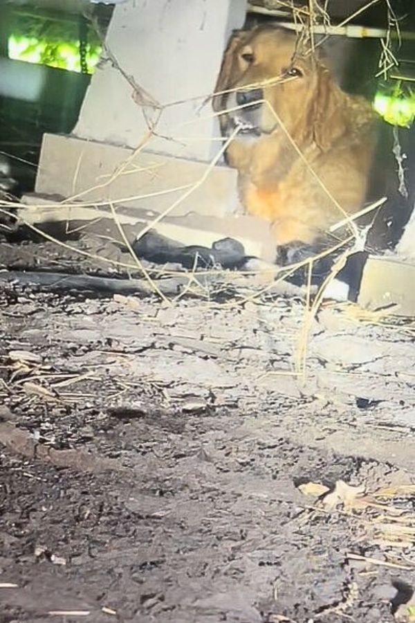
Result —
[[415, 262], [369, 257], [363, 269], [358, 304], [368, 309], [396, 306], [391, 313], [415, 316]]

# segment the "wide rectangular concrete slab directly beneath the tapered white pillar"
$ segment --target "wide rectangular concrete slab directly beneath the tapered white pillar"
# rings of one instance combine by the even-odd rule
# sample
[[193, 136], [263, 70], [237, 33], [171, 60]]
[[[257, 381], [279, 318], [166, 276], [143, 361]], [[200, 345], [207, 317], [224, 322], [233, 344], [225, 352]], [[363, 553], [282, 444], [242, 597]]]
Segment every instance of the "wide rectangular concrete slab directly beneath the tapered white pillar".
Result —
[[[126, 147], [44, 134], [35, 190], [45, 195], [75, 196], [86, 202], [110, 200], [163, 213], [202, 179], [208, 167], [174, 156], [133, 154]], [[124, 171], [111, 181], [118, 166], [127, 159], [131, 160]], [[237, 210], [237, 171], [217, 165], [169, 215], [196, 212], [222, 216]]]

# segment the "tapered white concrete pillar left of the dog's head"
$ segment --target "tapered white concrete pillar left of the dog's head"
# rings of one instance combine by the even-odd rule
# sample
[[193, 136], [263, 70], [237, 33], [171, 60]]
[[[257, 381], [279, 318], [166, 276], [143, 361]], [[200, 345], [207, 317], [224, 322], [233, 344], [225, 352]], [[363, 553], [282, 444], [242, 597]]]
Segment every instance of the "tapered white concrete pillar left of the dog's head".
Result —
[[[243, 25], [246, 0], [128, 0], [114, 9], [107, 45], [122, 69], [167, 107], [146, 149], [208, 161], [219, 150], [210, 102], [223, 51]], [[74, 134], [137, 147], [147, 131], [133, 89], [109, 61], [93, 76]], [[192, 100], [192, 98], [197, 98]], [[153, 116], [150, 109], [146, 113]], [[171, 140], [174, 139], [174, 140]]]

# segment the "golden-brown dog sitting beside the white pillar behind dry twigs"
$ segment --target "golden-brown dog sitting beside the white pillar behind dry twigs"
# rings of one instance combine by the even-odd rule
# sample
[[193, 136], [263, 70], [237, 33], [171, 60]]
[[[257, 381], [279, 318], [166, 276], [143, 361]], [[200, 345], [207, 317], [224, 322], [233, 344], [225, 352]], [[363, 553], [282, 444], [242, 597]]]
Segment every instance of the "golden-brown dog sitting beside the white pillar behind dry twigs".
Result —
[[340, 89], [319, 49], [299, 53], [282, 28], [241, 30], [214, 91], [223, 134], [239, 127], [226, 156], [241, 201], [277, 245], [312, 245], [365, 201], [376, 114]]

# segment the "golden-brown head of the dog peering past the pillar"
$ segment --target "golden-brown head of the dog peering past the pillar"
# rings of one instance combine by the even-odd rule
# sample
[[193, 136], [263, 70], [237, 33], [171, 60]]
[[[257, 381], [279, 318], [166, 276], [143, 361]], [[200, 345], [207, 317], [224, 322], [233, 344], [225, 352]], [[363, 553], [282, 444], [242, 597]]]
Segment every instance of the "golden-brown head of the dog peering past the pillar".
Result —
[[215, 93], [223, 133], [239, 126], [239, 136], [255, 139], [273, 134], [279, 120], [292, 136], [310, 134], [320, 114], [329, 121], [340, 90], [318, 51], [304, 54], [295, 33], [267, 27], [234, 34]]

